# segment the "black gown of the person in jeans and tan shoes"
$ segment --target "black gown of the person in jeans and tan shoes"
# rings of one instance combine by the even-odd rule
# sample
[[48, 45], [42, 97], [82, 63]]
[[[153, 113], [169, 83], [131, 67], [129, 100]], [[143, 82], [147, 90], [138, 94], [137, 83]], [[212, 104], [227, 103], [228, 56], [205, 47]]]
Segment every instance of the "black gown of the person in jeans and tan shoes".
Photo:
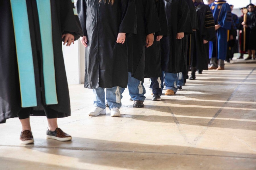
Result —
[[176, 39], [177, 33], [192, 33], [189, 7], [184, 0], [164, 0], [170, 36], [161, 40], [162, 70], [169, 73], [185, 71], [183, 40]]

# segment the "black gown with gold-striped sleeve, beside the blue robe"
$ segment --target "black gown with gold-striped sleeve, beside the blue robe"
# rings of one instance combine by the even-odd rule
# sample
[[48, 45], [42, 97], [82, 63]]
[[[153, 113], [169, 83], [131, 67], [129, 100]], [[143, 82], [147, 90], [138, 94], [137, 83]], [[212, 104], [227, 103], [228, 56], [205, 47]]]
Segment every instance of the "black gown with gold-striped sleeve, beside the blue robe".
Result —
[[192, 34], [194, 46], [191, 58], [191, 66], [199, 70], [208, 70], [209, 42], [204, 44], [203, 40], [214, 41], [216, 39], [215, 24], [212, 12], [208, 5], [196, 6], [199, 30]]

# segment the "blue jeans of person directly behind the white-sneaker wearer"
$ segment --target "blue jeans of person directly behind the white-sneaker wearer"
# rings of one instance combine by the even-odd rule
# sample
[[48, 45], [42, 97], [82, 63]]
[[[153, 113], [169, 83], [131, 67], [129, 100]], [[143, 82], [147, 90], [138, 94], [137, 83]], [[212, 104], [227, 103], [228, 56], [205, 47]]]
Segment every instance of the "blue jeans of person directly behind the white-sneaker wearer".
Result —
[[[122, 93], [124, 90], [125, 88], [122, 88]], [[144, 96], [144, 94], [146, 94], [146, 89], [143, 86], [143, 82], [132, 77], [130, 72], [128, 73], [128, 90], [133, 101], [144, 101], [146, 99]]]

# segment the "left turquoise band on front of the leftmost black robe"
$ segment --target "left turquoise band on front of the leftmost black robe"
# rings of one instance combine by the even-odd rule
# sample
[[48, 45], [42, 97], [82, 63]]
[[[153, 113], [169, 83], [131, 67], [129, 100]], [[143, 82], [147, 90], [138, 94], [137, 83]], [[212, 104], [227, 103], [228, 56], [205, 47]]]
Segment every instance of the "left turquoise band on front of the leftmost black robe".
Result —
[[10, 1], [20, 80], [21, 107], [34, 107], [37, 106], [36, 84], [26, 0]]

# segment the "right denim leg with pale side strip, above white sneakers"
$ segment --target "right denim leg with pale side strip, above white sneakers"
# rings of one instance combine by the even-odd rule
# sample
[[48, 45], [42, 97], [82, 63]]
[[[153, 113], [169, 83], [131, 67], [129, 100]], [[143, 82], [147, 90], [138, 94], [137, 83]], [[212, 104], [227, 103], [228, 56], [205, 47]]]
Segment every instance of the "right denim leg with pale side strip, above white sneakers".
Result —
[[121, 87], [112, 87], [106, 89], [106, 100], [108, 101], [109, 109], [118, 108], [122, 106], [121, 103]]

